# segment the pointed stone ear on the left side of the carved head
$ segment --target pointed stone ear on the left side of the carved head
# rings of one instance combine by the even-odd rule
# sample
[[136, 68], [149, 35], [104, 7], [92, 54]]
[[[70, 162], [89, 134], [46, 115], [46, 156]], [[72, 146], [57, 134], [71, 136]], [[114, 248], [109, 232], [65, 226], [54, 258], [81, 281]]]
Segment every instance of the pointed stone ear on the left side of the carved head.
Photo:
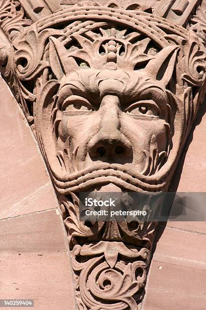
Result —
[[57, 40], [54, 36], [49, 37], [49, 42], [50, 66], [56, 78], [60, 81], [67, 73], [79, 69], [79, 66], [73, 57], [69, 57], [62, 42]]

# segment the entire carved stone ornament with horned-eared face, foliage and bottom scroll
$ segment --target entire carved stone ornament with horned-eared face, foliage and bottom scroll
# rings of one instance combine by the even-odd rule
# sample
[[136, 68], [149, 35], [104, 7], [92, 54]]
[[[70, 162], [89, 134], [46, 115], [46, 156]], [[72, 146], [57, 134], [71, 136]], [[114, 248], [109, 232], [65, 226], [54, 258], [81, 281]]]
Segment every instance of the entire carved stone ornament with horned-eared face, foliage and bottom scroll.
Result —
[[78, 308], [137, 309], [157, 222], [82, 222], [79, 192], [168, 190], [205, 95], [205, 3], [32, 3], [0, 1], [0, 62], [58, 195]]

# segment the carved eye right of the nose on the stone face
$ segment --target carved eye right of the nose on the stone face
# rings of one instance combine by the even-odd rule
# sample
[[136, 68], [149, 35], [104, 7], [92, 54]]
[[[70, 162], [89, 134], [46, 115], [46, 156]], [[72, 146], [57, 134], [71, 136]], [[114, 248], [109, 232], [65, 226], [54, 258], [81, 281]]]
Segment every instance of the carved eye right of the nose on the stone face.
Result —
[[153, 100], [141, 101], [132, 103], [125, 112], [134, 115], [145, 114], [148, 116], [158, 116], [160, 114], [160, 109], [158, 105]]

